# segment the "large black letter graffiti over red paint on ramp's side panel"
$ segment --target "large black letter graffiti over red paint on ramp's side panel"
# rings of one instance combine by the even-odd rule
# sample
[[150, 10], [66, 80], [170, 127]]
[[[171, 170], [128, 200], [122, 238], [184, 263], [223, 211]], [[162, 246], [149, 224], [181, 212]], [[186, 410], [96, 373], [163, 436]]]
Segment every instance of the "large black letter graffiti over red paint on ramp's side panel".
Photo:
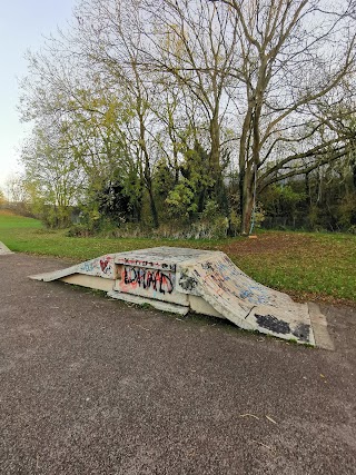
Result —
[[125, 267], [122, 280], [125, 285], [139, 286], [160, 294], [171, 294], [174, 290], [174, 277], [161, 270], [142, 269], [140, 267]]

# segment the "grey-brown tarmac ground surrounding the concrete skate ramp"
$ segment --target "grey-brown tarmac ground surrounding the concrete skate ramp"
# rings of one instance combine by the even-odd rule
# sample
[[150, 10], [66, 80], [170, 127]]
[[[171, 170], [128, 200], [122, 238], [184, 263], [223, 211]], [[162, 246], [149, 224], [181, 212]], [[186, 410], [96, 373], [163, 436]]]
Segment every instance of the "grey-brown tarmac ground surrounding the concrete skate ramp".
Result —
[[0, 260], [0, 473], [355, 473], [355, 309], [315, 350], [24, 278], [68, 266]]

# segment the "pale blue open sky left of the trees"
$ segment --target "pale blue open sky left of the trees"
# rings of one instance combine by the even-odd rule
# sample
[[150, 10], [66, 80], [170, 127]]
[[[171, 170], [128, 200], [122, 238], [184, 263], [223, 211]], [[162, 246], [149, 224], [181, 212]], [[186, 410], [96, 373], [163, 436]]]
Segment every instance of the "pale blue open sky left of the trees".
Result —
[[24, 53], [43, 44], [43, 36], [66, 28], [76, 0], [8, 0], [0, 12], [0, 188], [19, 169], [19, 147], [26, 125], [20, 123], [17, 78], [27, 71]]

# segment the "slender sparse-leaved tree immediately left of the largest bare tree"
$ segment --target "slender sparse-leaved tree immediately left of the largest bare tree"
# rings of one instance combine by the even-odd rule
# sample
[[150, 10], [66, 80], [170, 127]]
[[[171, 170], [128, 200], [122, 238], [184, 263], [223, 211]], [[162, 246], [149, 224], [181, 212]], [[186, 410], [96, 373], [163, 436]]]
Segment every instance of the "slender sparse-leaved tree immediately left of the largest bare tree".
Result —
[[209, 137], [207, 174], [211, 174], [217, 195], [221, 186], [221, 125], [230, 100], [226, 86], [236, 41], [231, 16], [205, 1], [146, 1], [142, 8], [149, 19], [144, 29], [142, 60], [162, 82], [179, 87], [200, 105], [200, 121], [206, 121]]

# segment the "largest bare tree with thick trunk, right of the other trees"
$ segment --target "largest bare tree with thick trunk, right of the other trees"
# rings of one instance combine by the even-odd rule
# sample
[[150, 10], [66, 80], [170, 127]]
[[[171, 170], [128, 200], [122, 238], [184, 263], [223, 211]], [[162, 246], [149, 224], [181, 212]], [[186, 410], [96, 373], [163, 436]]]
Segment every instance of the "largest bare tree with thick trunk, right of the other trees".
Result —
[[[334, 107], [355, 71], [349, 1], [221, 0], [234, 12], [240, 61], [231, 90], [240, 108], [241, 231], [248, 234], [256, 194], [345, 155], [343, 137], [316, 113]], [[323, 137], [320, 130], [323, 129]]]

